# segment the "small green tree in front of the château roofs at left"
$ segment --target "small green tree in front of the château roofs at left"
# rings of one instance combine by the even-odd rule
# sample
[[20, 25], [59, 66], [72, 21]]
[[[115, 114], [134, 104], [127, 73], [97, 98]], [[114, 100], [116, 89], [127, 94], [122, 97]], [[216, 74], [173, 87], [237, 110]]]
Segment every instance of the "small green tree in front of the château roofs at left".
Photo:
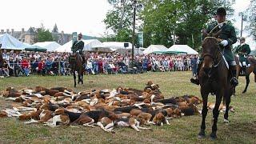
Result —
[[36, 30], [35, 40], [34, 42], [50, 42], [54, 41], [50, 30], [46, 30], [46, 28], [41, 24], [41, 26]]

